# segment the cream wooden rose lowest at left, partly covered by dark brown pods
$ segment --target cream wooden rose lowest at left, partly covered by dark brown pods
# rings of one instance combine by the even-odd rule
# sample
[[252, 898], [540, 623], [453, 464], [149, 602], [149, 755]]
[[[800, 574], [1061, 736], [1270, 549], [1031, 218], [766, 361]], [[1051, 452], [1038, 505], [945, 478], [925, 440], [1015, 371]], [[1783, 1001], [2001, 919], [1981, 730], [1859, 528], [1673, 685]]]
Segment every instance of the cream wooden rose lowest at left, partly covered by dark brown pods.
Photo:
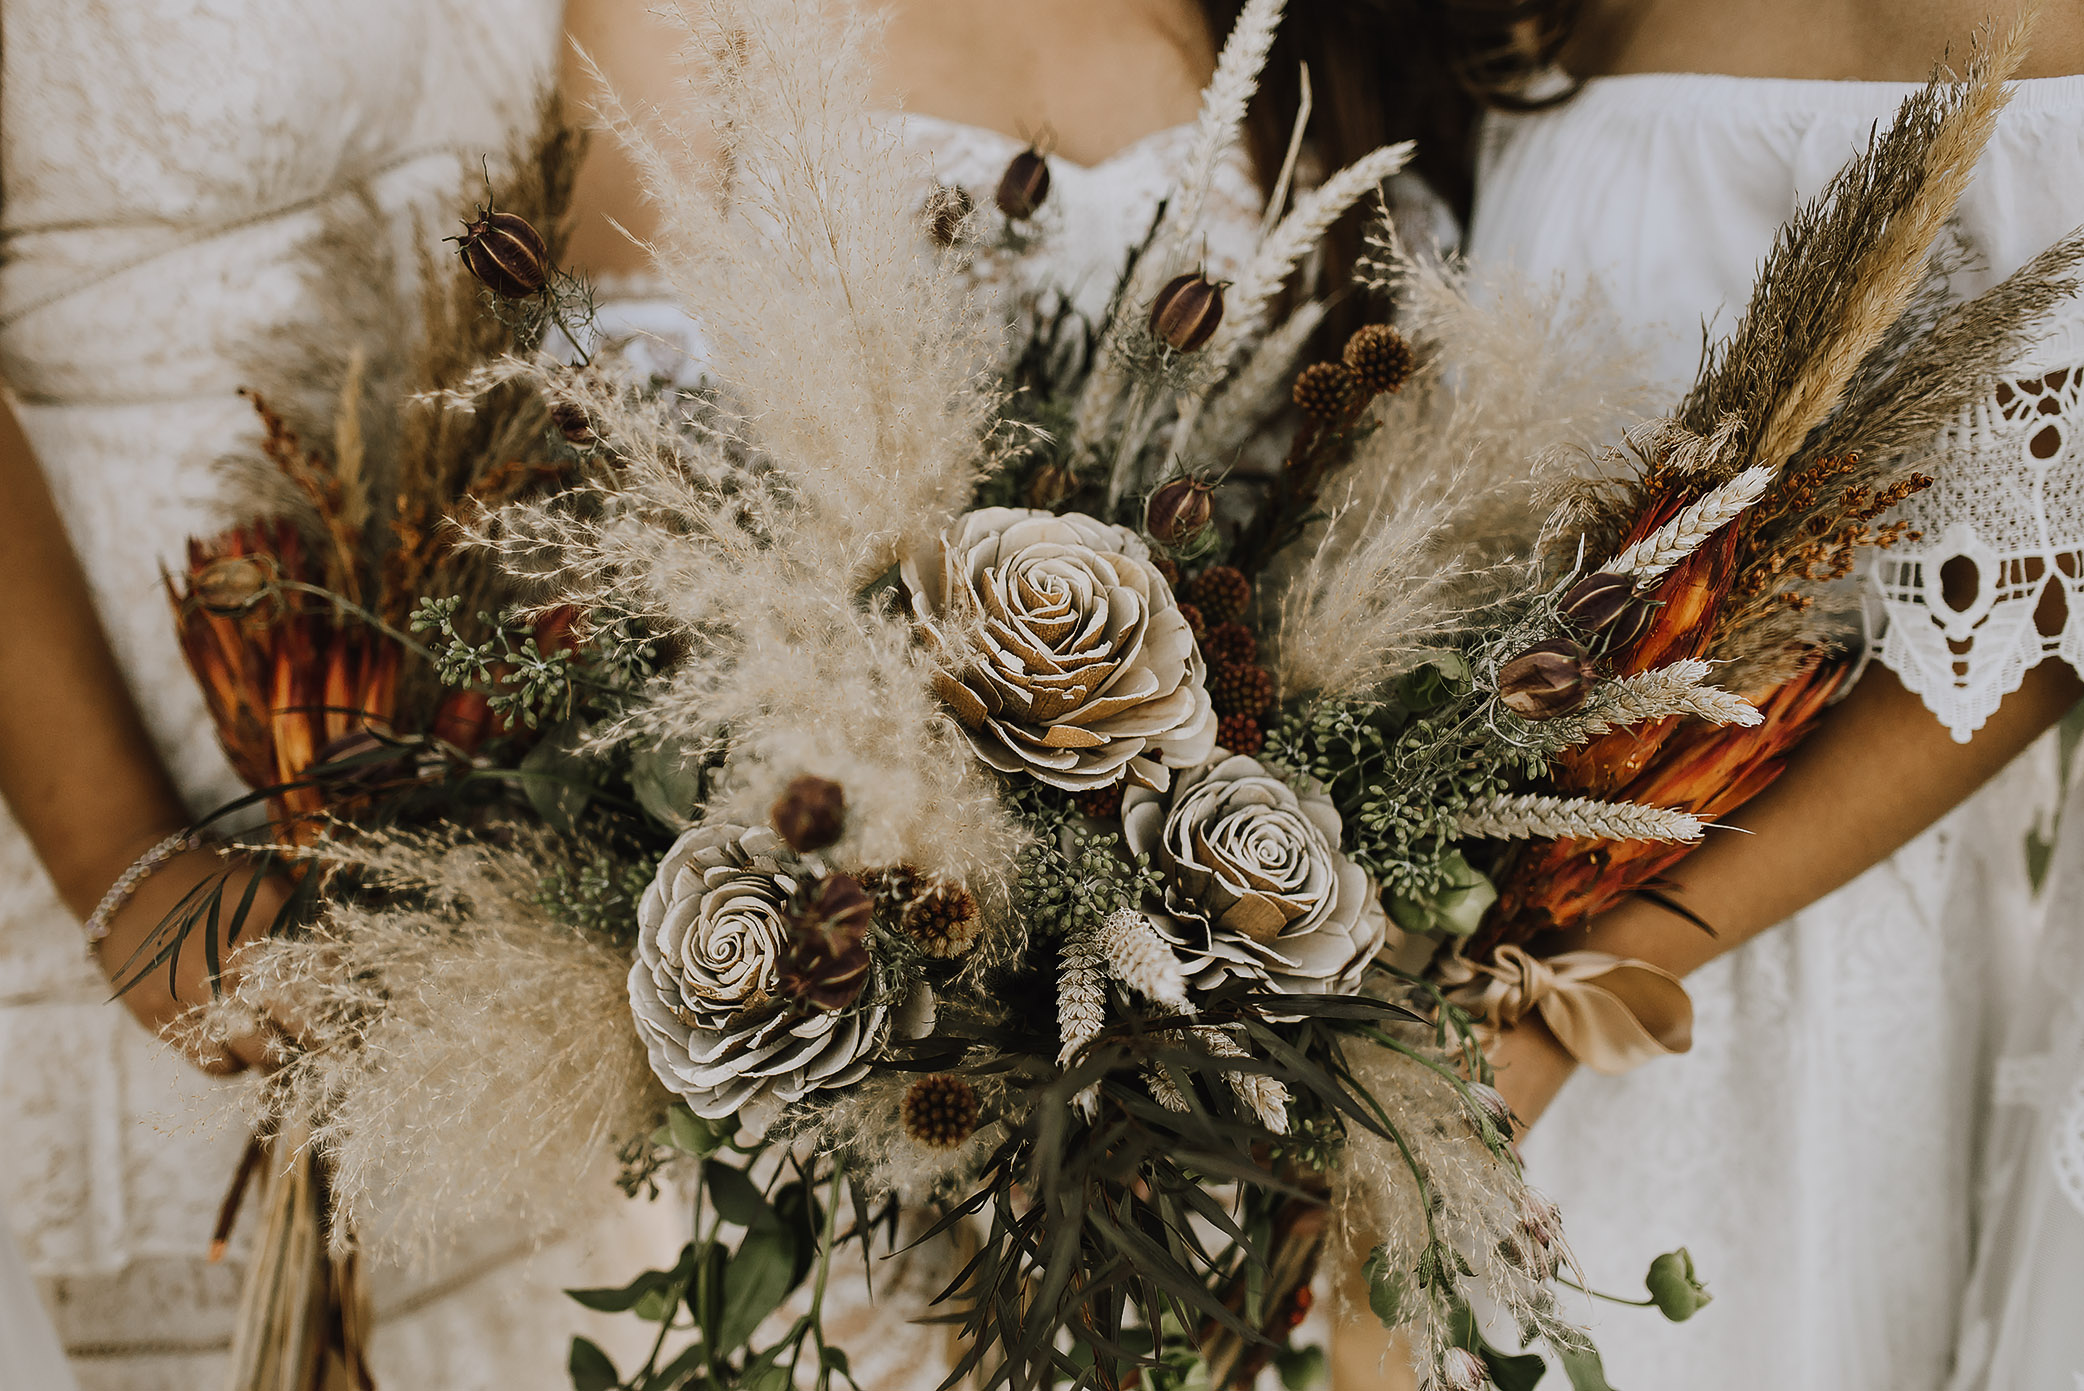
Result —
[[848, 1087], [888, 1007], [817, 1009], [779, 993], [798, 865], [767, 828], [696, 826], [638, 905], [629, 1007], [652, 1072], [696, 1116], [754, 1130], [788, 1101]]

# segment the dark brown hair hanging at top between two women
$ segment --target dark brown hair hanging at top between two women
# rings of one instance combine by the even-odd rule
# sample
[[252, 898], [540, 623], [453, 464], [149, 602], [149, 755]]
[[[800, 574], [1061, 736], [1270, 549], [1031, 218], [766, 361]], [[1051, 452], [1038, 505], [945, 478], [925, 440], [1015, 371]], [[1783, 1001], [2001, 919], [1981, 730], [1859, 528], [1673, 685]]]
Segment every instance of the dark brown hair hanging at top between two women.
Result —
[[[1221, 44], [1242, 0], [1202, 0]], [[1413, 167], [1467, 219], [1475, 184], [1475, 123], [1486, 108], [1521, 111], [1532, 77], [1555, 63], [1582, 0], [1292, 0], [1267, 58], [1246, 142], [1259, 177], [1280, 173], [1309, 65], [1315, 108], [1309, 146], [1330, 173], [1375, 146], [1415, 140]], [[1567, 96], [1567, 92], [1565, 92]], [[1359, 254], [1361, 217], [1330, 242], [1328, 277]]]

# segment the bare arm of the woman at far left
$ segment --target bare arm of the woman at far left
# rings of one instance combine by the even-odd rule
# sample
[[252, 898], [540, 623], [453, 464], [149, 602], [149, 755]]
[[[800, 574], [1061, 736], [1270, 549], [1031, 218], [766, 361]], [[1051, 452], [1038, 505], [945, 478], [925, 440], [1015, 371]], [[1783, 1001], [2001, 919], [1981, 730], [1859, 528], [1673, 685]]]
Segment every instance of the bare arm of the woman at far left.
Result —
[[[4, 405], [0, 517], [0, 594], [8, 596], [0, 624], [0, 797], [58, 897], [85, 920], [117, 876], [190, 815], [108, 651], [29, 442]], [[98, 947], [102, 970], [121, 970], [194, 884], [221, 872], [215, 851], [192, 851], [148, 876]], [[263, 890], [269, 897], [256, 911], [271, 911], [279, 899], [273, 886]], [[154, 972], [123, 997], [152, 1030], [204, 999], [200, 943], [181, 953], [177, 989]], [[200, 1061], [235, 1072], [258, 1057], [258, 1041], [242, 1041], [231, 1055]]]

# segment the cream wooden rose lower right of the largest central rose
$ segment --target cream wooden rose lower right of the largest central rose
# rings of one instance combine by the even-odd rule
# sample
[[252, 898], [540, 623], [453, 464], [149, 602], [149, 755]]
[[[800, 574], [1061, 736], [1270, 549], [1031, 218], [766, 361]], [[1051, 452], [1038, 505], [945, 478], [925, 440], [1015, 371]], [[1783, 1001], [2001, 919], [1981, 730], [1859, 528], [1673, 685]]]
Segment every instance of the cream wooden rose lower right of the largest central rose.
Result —
[[1338, 853], [1338, 809], [1259, 759], [1217, 755], [1169, 797], [1130, 788], [1121, 799], [1130, 853], [1150, 855], [1165, 880], [1150, 926], [1198, 991], [1246, 976], [1275, 991], [1350, 995], [1388, 916], [1367, 874]]

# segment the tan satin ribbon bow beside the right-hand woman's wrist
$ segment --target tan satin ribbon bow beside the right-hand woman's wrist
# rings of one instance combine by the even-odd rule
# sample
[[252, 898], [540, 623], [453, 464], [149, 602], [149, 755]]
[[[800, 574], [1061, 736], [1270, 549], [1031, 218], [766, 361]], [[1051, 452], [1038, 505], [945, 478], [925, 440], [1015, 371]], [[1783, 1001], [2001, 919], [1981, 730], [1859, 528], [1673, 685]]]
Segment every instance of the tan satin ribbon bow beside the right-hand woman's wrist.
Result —
[[[1450, 999], [1492, 1028], [1530, 1009], [1592, 1072], [1619, 1074], [1692, 1047], [1692, 999], [1671, 972], [1607, 951], [1565, 951], [1546, 961], [1498, 947], [1488, 966], [1459, 961]], [[1453, 980], [1461, 976], [1461, 980]]]

